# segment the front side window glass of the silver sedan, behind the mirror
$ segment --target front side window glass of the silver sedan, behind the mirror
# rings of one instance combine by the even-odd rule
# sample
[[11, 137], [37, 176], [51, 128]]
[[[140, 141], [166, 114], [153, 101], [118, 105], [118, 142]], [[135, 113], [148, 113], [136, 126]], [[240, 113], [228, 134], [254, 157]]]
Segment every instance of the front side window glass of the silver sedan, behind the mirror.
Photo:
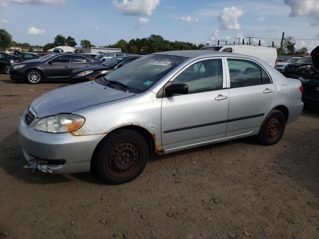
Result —
[[188, 94], [222, 89], [223, 66], [221, 59], [196, 62], [179, 74], [172, 84], [188, 85]]

